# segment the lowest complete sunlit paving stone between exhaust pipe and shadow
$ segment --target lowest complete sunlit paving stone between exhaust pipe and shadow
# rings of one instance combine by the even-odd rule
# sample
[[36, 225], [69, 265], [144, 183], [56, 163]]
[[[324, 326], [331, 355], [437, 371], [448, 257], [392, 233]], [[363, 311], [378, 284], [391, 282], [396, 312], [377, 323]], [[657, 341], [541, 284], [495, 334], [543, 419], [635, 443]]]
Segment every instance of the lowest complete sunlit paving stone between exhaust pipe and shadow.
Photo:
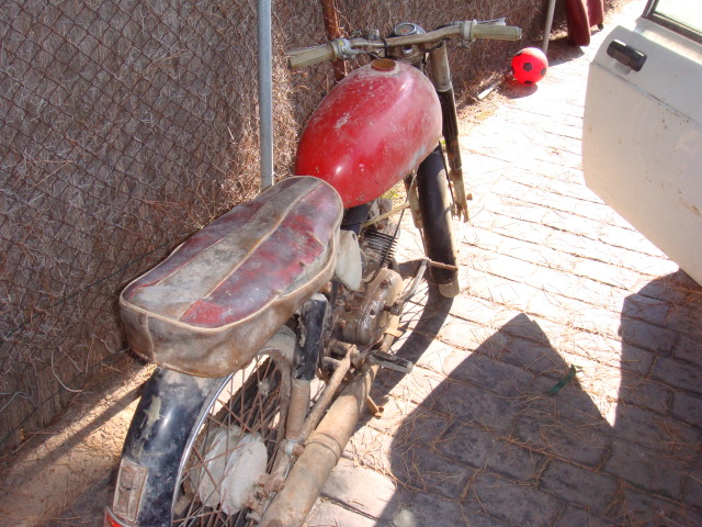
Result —
[[387, 476], [341, 459], [321, 489], [321, 494], [366, 516], [380, 518], [395, 495]]

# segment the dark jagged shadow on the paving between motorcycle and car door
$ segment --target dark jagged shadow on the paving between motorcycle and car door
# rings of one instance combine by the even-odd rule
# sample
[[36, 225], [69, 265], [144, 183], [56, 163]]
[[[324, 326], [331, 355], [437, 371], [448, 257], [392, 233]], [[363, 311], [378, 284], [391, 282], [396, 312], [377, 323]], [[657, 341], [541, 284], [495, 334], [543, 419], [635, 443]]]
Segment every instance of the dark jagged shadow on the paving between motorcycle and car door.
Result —
[[[380, 525], [702, 525], [702, 406], [689, 385], [702, 370], [701, 299], [683, 273], [626, 299], [609, 419], [593, 402], [607, 394], [577, 377], [562, 385], [571, 365], [525, 314], [473, 352], [454, 349], [448, 377], [393, 434], [397, 489]], [[429, 347], [450, 303], [437, 307], [400, 352]], [[401, 375], [378, 380], [387, 402]]]

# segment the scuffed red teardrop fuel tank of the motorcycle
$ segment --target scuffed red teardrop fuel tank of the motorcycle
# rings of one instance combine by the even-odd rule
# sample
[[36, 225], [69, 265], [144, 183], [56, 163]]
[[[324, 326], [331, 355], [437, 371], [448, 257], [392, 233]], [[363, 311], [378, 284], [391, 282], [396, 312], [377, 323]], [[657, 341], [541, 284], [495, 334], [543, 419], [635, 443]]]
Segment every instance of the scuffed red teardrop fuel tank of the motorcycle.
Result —
[[295, 173], [331, 183], [343, 205], [366, 203], [417, 168], [439, 144], [441, 105], [416, 68], [376, 59], [339, 82], [313, 113]]

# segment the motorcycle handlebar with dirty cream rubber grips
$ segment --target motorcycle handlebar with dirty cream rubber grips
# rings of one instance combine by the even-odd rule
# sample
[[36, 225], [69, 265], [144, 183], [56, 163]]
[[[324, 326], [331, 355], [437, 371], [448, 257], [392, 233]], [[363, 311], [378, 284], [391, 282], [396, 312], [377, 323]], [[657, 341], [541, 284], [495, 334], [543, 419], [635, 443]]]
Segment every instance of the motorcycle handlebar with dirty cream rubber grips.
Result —
[[287, 52], [288, 64], [292, 69], [306, 68], [325, 60], [348, 60], [360, 53], [384, 52], [387, 48], [437, 44], [450, 38], [461, 38], [473, 42], [476, 38], [492, 38], [499, 41], [518, 41], [522, 37], [522, 30], [513, 25], [478, 22], [466, 20], [430, 31], [429, 33], [408, 36], [392, 36], [389, 38], [335, 38], [319, 46], [305, 47]]

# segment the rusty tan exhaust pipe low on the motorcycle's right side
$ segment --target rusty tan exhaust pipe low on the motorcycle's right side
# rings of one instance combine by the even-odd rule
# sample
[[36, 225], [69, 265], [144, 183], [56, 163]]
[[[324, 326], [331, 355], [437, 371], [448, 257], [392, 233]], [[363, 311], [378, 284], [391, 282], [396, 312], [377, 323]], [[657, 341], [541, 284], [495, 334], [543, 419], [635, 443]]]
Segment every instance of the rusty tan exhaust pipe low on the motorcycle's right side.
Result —
[[329, 407], [285, 479], [285, 487], [265, 511], [260, 527], [299, 527], [303, 524], [353, 435], [378, 368], [378, 365], [372, 365], [362, 370]]

